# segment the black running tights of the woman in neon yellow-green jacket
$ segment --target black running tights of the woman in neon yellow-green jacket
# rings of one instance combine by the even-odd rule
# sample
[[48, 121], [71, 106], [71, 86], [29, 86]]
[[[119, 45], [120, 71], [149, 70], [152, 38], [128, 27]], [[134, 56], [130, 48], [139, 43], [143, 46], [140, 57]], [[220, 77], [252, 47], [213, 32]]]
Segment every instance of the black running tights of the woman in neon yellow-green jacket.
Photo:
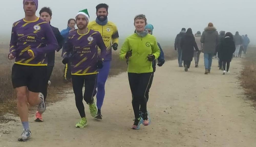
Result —
[[140, 118], [142, 113], [147, 112], [147, 100], [150, 83], [153, 81], [153, 73], [128, 73], [129, 84], [132, 92], [132, 106], [135, 118]]

